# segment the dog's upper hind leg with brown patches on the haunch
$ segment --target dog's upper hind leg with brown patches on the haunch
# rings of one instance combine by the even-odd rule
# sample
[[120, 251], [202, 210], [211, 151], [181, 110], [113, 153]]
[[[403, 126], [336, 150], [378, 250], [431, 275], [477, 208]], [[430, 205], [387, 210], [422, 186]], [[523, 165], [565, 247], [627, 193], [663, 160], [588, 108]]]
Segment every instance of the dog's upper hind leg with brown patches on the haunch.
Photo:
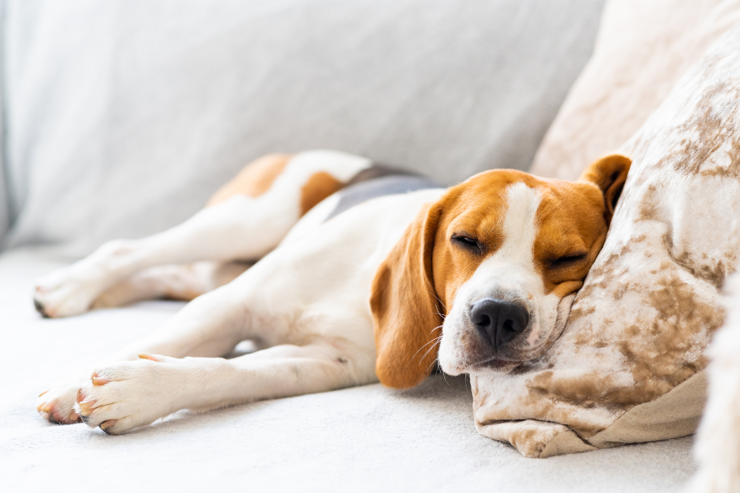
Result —
[[332, 151], [263, 157], [181, 225], [143, 239], [108, 242], [40, 279], [36, 308], [50, 317], [84, 313], [105, 290], [156, 265], [259, 259], [303, 214], [369, 166], [366, 158]]

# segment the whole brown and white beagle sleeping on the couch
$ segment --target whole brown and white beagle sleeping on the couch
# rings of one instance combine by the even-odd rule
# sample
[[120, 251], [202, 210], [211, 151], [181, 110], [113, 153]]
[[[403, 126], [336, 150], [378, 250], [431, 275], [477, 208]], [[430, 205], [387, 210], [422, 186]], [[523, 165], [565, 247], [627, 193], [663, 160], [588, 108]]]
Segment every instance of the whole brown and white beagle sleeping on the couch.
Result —
[[[117, 435], [178, 409], [411, 387], [437, 361], [509, 372], [562, 331], [629, 168], [612, 155], [576, 182], [499, 169], [445, 189], [342, 152], [263, 157], [183, 224], [38, 282], [49, 317], [192, 302], [37, 409]], [[221, 357], [246, 339], [264, 349]]]

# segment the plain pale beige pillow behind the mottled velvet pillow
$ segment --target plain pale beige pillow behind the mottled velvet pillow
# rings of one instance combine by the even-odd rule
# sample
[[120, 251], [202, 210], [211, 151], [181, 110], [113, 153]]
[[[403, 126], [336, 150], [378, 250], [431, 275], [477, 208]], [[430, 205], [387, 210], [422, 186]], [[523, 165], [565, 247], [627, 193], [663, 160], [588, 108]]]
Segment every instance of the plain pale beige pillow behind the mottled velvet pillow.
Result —
[[531, 171], [576, 180], [645, 123], [704, 51], [740, 19], [740, 0], [610, 0], [591, 60]]

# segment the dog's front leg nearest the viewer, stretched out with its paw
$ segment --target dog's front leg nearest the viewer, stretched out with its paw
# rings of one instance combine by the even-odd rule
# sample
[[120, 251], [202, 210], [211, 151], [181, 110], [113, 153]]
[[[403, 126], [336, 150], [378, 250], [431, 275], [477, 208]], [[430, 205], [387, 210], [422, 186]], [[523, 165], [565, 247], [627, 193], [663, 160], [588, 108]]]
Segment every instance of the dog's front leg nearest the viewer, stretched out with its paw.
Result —
[[271, 347], [240, 358], [143, 355], [95, 370], [78, 392], [78, 411], [112, 435], [178, 409], [208, 410], [367, 383], [333, 344]]

